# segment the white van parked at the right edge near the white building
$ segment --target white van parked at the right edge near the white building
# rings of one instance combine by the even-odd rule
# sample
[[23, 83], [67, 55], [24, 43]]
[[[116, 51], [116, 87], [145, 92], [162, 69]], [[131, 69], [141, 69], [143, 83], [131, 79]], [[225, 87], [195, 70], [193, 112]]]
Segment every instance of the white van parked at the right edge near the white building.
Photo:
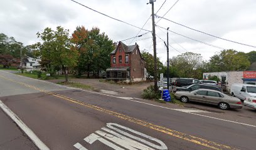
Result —
[[244, 101], [247, 97], [256, 96], [256, 85], [252, 84], [232, 84], [230, 94]]

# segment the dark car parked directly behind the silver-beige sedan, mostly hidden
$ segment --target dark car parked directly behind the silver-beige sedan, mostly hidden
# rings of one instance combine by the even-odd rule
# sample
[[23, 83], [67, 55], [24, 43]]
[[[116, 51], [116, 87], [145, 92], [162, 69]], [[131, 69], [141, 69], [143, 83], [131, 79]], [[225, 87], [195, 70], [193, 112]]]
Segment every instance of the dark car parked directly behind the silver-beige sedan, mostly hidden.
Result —
[[210, 84], [193, 84], [190, 86], [178, 87], [176, 88], [176, 90], [174, 89], [174, 91], [195, 91], [196, 89], [212, 89], [215, 91], [222, 92], [222, 89], [220, 88], [220, 86], [213, 86]]

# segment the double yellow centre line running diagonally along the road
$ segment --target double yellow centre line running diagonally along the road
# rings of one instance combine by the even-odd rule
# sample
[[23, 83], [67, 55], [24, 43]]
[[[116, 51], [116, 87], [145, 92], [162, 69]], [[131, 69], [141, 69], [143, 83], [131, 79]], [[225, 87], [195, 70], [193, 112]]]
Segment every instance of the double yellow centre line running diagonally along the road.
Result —
[[36, 90], [41, 91], [41, 92], [46, 93], [46, 94], [51, 94], [52, 96], [55, 96], [55, 97], [60, 98], [60, 99], [65, 99], [66, 101], [70, 101], [71, 103], [79, 104], [81, 106], [85, 106], [87, 108], [91, 108], [91, 109], [94, 109], [94, 110], [97, 110], [97, 111], [101, 111], [103, 113], [109, 114], [111, 116], [115, 116], [115, 117], [120, 118], [120, 119], [131, 121], [132, 123], [136, 123], [136, 124], [139, 124], [141, 126], [145, 126], [147, 128], [154, 129], [154, 130], [159, 131], [161, 133], [166, 133], [166, 134], [174, 136], [176, 138], [184, 139], [186, 141], [190, 141], [192, 143], [199, 144], [201, 146], [205, 146], [207, 148], [211, 148], [211, 149], [235, 149], [235, 148], [232, 148], [230, 146], [215, 143], [213, 141], [208, 141], [206, 139], [201, 139], [201, 138], [198, 138], [198, 137], [195, 137], [195, 136], [190, 136], [188, 134], [180, 133], [178, 131], [174, 131], [172, 129], [165, 128], [163, 126], [157, 126], [156, 124], [148, 123], [146, 121], [142, 121], [140, 119], [132, 118], [132, 117], [124, 115], [124, 114], [120, 114], [120, 113], [116, 113], [114, 111], [110, 111], [110, 110], [107, 110], [107, 109], [104, 109], [104, 108], [100, 108], [100, 107], [94, 106], [92, 104], [83, 103], [82, 101], [78, 101], [76, 99], [68, 98], [67, 96], [62, 96], [60, 94], [56, 94], [56, 93], [53, 93], [53, 92], [50, 92], [50, 91], [46, 91], [44, 89], [36, 88], [35, 86], [31, 86], [29, 84], [21, 83], [19, 81], [14, 81], [13, 79], [9, 79], [9, 78], [6, 78], [6, 77], [1, 76], [1, 75], [0, 75], [0, 78], [6, 79], [8, 81], [12, 81], [14, 83], [21, 84], [21, 85], [26, 86], [26, 87], [31, 88], [31, 89], [36, 89]]

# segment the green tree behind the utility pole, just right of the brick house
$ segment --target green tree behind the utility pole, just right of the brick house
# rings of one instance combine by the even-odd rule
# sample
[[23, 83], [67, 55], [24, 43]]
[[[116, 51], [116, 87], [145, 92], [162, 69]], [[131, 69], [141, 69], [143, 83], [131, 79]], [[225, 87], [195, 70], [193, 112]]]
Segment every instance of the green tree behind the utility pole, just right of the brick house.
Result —
[[[150, 54], [147, 51], [142, 51], [141, 52], [141, 56], [142, 58], [145, 60], [146, 62], [146, 68], [147, 68], [147, 73], [149, 74], [154, 74], [154, 56], [152, 56], [152, 54]], [[160, 61], [159, 58], [156, 58], [156, 65], [157, 65], [157, 73], [165, 73], [166, 68], [164, 68], [163, 63]]]

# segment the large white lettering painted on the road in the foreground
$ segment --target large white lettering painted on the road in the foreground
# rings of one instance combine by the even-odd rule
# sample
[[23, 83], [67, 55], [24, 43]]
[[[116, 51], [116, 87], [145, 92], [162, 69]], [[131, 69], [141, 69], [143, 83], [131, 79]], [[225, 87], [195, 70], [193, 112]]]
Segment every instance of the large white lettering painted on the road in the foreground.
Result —
[[[114, 126], [117, 128], [115, 128]], [[138, 131], [127, 128], [125, 126], [121, 126], [120, 124], [107, 123], [107, 128], [104, 127], [101, 129], [103, 131], [100, 131], [100, 130], [95, 131], [95, 133], [90, 134], [89, 136], [87, 136], [87, 138], [84, 138], [84, 140], [89, 144], [93, 144], [95, 141], [98, 140], [101, 143], [109, 146], [110, 148], [117, 149], [117, 150], [123, 150], [123, 148], [129, 149], [129, 150], [139, 150], [139, 149], [154, 150], [154, 148], [161, 149], [161, 150], [168, 149], [166, 144], [164, 144], [159, 139], [152, 138], [151, 136], [147, 136], [146, 134], [140, 133]], [[115, 131], [113, 131], [112, 129]], [[122, 129], [124, 131], [122, 131]], [[141, 139], [137, 136], [129, 134], [127, 133], [127, 131], [133, 134], [136, 134], [137, 136], [154, 141], [154, 143], [158, 143], [160, 144], [160, 146], [154, 143], [151, 143], [149, 141], [146, 141], [145, 139]], [[76, 143], [74, 146], [77, 149], [84, 148], [80, 143]]]

